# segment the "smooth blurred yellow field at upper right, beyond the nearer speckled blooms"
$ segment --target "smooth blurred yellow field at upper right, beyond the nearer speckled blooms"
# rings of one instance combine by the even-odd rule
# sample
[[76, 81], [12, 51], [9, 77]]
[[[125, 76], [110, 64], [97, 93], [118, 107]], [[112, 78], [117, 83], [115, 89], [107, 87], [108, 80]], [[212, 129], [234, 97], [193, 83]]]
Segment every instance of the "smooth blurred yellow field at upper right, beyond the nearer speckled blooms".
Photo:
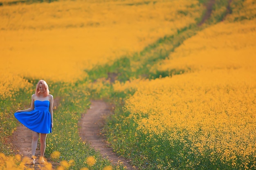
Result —
[[256, 19], [221, 22], [186, 40], [153, 69], [202, 71], [256, 69]]

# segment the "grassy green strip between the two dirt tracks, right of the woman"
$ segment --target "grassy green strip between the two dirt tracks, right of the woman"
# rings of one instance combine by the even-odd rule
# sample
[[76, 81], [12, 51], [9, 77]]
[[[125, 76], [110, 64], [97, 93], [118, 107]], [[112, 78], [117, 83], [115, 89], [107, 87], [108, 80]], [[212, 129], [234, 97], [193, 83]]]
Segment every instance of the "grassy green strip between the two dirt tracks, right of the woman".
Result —
[[84, 86], [82, 83], [59, 83], [52, 86], [53, 94], [61, 98], [59, 106], [54, 110], [54, 128], [53, 133], [47, 137], [45, 155], [50, 158], [52, 152], [59, 151], [61, 157], [57, 161], [74, 160], [71, 169], [88, 167], [86, 157], [94, 156], [97, 161], [91, 169], [99, 170], [110, 165], [110, 161], [103, 159], [99, 151], [95, 151], [79, 137], [78, 121], [81, 119], [81, 113], [85, 113], [90, 106], [89, 94]]

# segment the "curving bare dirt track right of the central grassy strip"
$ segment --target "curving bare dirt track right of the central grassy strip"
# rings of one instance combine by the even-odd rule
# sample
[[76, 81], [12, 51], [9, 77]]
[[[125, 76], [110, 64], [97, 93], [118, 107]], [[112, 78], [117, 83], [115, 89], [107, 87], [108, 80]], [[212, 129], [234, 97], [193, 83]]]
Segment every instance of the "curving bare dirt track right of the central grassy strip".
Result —
[[113, 152], [112, 148], [107, 146], [106, 141], [99, 135], [104, 125], [104, 119], [110, 113], [110, 105], [103, 101], [92, 101], [91, 108], [86, 114], [83, 114], [80, 121], [80, 136], [93, 148], [99, 150], [102, 157], [107, 157], [114, 164], [121, 161], [128, 170], [135, 170], [136, 168], [130, 165], [129, 160], [118, 157], [115, 152]]

